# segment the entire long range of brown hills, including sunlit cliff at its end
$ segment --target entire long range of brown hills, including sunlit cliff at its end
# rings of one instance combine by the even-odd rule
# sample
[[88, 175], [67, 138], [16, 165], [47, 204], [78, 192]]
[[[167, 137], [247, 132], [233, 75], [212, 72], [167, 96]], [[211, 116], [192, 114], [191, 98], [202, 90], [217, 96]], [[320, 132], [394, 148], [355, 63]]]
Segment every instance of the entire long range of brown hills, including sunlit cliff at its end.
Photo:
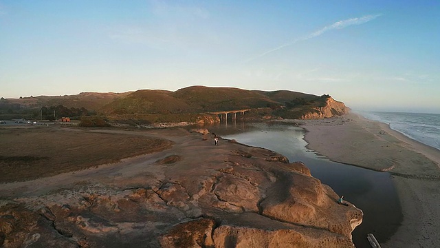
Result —
[[[134, 123], [157, 122], [218, 122], [210, 112], [251, 109], [247, 120], [262, 118], [327, 118], [347, 113], [344, 103], [329, 95], [315, 96], [288, 90], [265, 92], [235, 87], [191, 86], [175, 92], [167, 90], [137, 90], [125, 93], [85, 92], [71, 96], [31, 96], [2, 99], [0, 118], [12, 116], [36, 118], [54, 113], [100, 115], [113, 121], [132, 120]], [[40, 112], [41, 111], [41, 112]], [[68, 114], [64, 114], [68, 115]], [[17, 118], [17, 117], [14, 117]], [[59, 117], [58, 117], [59, 118]]]

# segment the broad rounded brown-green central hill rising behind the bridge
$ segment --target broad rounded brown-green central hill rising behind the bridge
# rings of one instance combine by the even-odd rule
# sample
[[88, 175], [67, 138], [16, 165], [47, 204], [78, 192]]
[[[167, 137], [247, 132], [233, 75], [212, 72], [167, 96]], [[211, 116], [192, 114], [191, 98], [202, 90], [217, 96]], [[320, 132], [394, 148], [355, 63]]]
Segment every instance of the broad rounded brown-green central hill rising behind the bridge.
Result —
[[102, 107], [106, 114], [179, 114], [267, 107], [269, 97], [233, 87], [191, 86], [175, 92], [137, 90]]

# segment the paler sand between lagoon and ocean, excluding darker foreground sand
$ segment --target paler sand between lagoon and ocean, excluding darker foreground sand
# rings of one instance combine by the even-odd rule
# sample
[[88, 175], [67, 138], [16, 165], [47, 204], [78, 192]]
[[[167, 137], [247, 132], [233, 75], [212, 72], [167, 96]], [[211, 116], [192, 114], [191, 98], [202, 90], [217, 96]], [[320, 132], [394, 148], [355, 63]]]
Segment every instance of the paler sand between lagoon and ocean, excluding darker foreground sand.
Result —
[[[331, 161], [399, 176], [440, 176], [440, 150], [392, 130], [386, 123], [350, 113], [306, 120], [300, 127], [306, 130], [307, 148]], [[412, 166], [415, 164], [419, 166]]]

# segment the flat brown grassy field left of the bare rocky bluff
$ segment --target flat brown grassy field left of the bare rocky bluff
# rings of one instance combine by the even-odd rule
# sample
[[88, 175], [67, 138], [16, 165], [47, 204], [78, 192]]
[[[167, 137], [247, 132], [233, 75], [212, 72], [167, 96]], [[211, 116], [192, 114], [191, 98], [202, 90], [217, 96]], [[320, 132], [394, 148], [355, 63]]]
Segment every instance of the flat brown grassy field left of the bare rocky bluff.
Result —
[[[97, 130], [97, 129], [91, 129]], [[171, 141], [63, 127], [1, 127], [0, 183], [74, 172], [158, 152]]]

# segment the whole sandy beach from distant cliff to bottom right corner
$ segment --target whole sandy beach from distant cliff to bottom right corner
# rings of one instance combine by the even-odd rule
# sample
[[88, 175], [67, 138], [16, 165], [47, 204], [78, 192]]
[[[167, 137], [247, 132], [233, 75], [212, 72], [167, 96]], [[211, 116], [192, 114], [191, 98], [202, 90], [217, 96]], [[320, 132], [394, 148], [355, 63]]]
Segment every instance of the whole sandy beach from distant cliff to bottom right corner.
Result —
[[[382, 247], [439, 247], [440, 151], [358, 114], [307, 120], [309, 149], [331, 161], [391, 174], [404, 216]], [[381, 240], [380, 240], [381, 241]]]

